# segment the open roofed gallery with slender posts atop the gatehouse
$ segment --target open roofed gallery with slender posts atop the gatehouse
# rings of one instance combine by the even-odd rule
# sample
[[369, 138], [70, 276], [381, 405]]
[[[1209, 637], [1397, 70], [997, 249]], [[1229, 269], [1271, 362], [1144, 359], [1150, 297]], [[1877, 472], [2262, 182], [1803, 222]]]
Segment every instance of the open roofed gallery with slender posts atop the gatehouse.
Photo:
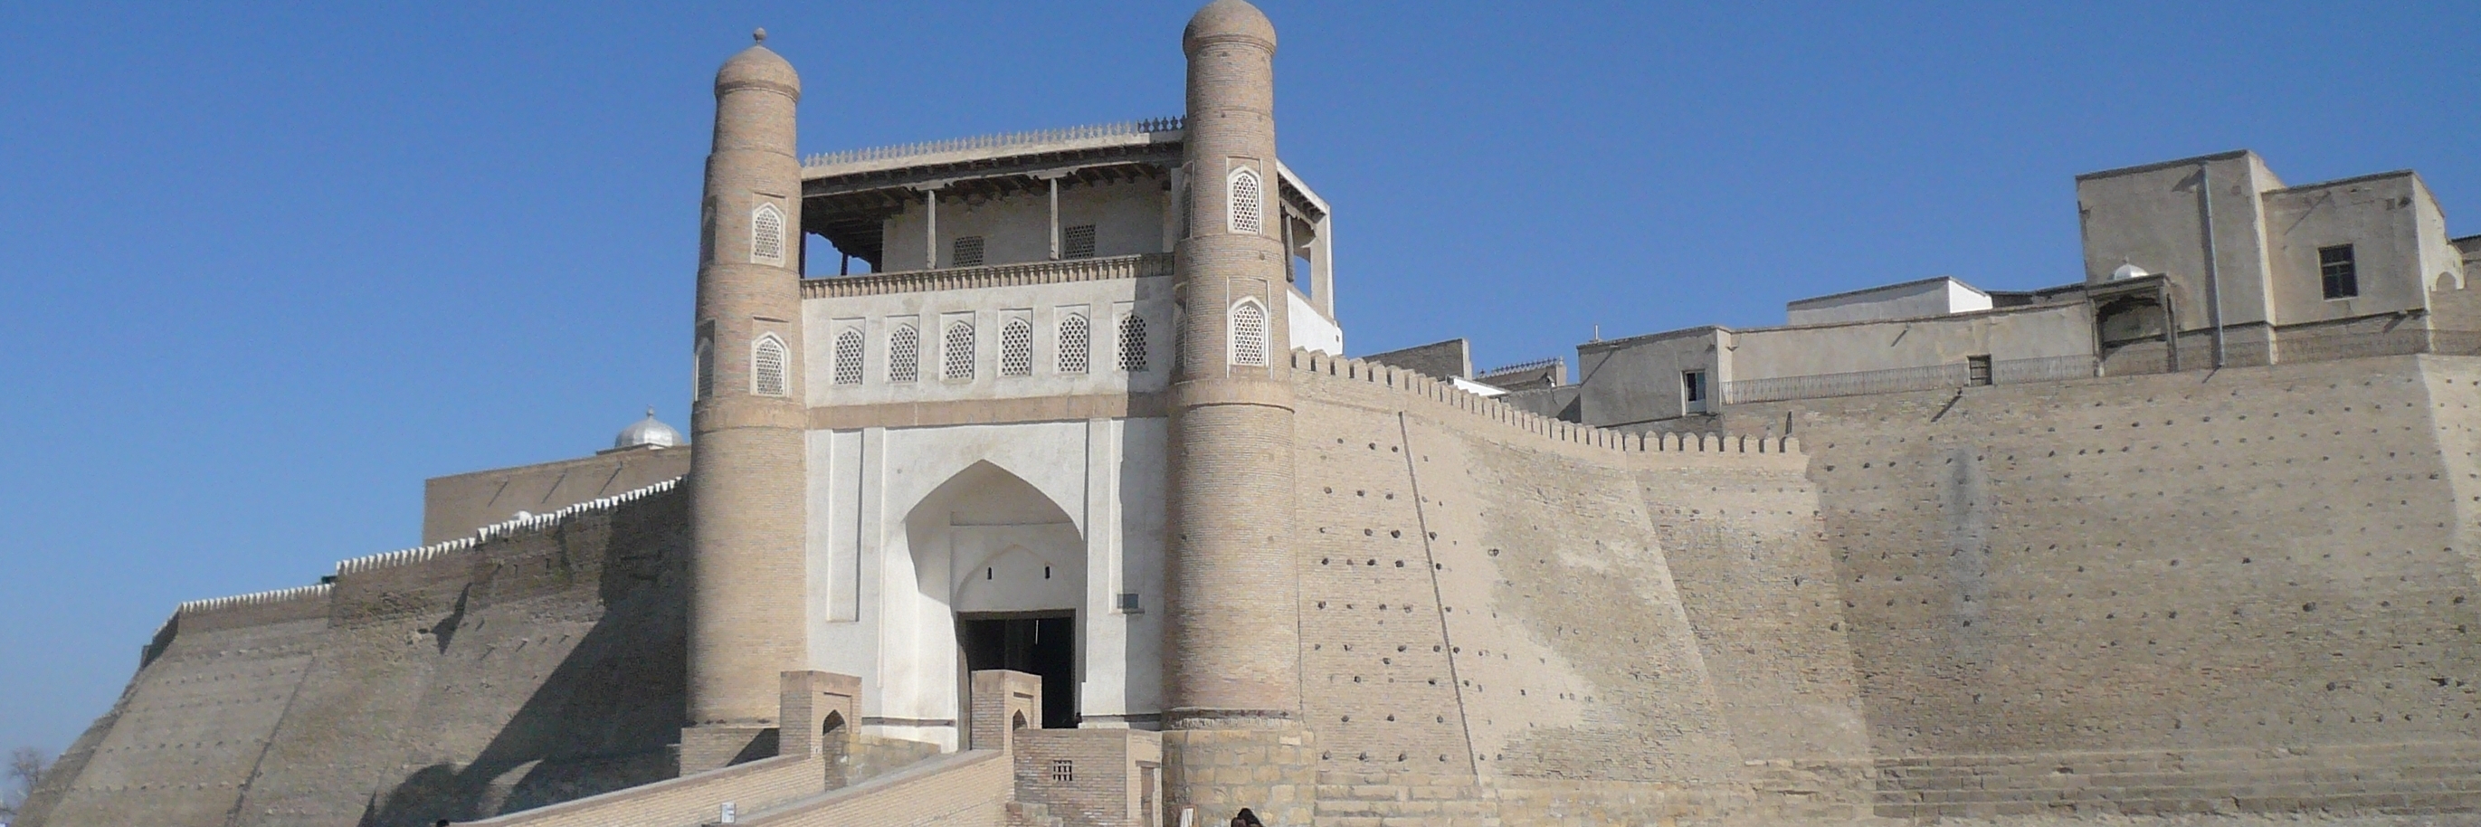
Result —
[[[1178, 117], [873, 147], [801, 159], [801, 228], [871, 273], [1171, 253]], [[1295, 293], [1335, 320], [1332, 206], [1283, 161]], [[804, 273], [826, 276], [826, 273]]]

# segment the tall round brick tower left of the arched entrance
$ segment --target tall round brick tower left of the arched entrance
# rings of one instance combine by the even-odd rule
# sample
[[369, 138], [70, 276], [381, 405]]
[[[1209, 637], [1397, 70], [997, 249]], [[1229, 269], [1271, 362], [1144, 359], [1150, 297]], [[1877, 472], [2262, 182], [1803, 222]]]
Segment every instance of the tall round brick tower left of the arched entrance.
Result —
[[692, 343], [682, 772], [772, 755], [752, 743], [777, 725], [777, 676], [809, 661], [799, 99], [801, 77], [764, 45], [715, 75]]

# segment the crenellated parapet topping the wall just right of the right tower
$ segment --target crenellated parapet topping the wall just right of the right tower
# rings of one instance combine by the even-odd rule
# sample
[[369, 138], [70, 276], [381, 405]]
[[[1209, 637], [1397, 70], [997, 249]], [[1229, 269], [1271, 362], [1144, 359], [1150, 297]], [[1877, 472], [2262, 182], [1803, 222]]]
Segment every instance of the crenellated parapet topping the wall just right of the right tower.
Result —
[[1407, 400], [1424, 400], [1432, 410], [1446, 407], [1461, 412], [1471, 420], [1496, 422], [1506, 430], [1518, 430], [1541, 440], [1600, 447], [1628, 454], [1647, 454], [1652, 462], [1672, 462], [1685, 457], [1702, 459], [1762, 459], [1764, 462], [1809, 462], [1801, 454], [1801, 440], [1796, 437], [1771, 437], [1771, 435], [1685, 435], [1685, 432], [1620, 432], [1608, 427], [1593, 427], [1580, 422], [1566, 422], [1543, 417], [1516, 405], [1506, 405], [1471, 390], [1456, 387], [1451, 382], [1392, 368], [1370, 360], [1337, 358], [1317, 350], [1293, 350], [1293, 377], [1295, 382], [1355, 382], [1360, 387], [1372, 387], [1392, 392]]

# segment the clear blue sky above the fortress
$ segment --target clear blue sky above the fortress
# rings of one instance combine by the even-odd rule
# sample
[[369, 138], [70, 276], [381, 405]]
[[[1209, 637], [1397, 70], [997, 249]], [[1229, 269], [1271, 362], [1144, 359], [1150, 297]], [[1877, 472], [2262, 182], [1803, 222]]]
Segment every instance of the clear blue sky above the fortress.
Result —
[[[0, 5], [0, 748], [176, 601], [417, 541], [422, 479], [685, 425], [715, 67], [804, 151], [1181, 112], [1191, 2]], [[2079, 278], [2072, 176], [2419, 169], [2481, 233], [2476, 2], [1268, 0], [1352, 353], [1479, 363]]]

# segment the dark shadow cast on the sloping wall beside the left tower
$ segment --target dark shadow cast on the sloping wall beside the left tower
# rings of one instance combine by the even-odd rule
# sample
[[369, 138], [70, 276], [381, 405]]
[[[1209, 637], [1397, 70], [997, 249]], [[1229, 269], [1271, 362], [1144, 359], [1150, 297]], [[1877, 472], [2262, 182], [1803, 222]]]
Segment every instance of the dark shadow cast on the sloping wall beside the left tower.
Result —
[[[603, 616], [471, 762], [414, 770], [370, 797], [360, 827], [481, 820], [677, 775], [670, 745], [680, 740], [687, 680], [682, 512], [618, 509], [600, 549], [566, 546], [576, 534], [563, 536], [561, 564], [603, 561]], [[491, 581], [514, 569], [486, 571], [447, 621], [489, 618]], [[439, 646], [459, 658], [447, 636]]]

